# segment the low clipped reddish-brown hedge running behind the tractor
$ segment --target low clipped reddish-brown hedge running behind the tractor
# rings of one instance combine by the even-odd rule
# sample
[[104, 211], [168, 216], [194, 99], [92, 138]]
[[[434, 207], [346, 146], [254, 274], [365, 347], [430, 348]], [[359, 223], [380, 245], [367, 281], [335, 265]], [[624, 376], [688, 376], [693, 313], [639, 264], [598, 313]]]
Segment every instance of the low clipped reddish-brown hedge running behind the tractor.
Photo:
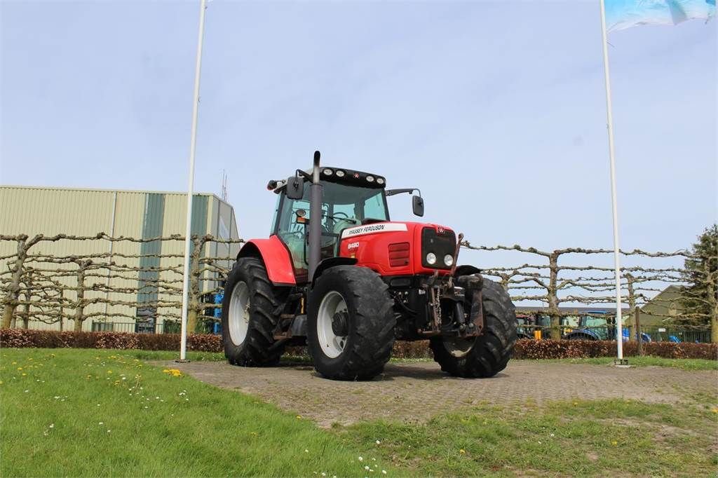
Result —
[[[624, 342], [623, 355], [638, 355], [637, 342]], [[83, 349], [139, 349], [179, 350], [179, 334], [129, 334], [125, 332], [55, 332], [47, 330], [0, 330], [0, 347], [73, 347]], [[187, 350], [222, 352], [222, 337], [210, 334], [191, 334]], [[304, 347], [290, 347], [292, 355], [306, 355]], [[718, 344], [691, 342], [649, 342], [643, 344], [643, 354], [666, 358], [694, 358], [718, 360]], [[615, 357], [616, 342], [602, 340], [530, 340], [516, 342], [513, 357], [517, 359], [556, 359], [585, 357]], [[393, 357], [431, 358], [426, 340], [396, 342]]]

